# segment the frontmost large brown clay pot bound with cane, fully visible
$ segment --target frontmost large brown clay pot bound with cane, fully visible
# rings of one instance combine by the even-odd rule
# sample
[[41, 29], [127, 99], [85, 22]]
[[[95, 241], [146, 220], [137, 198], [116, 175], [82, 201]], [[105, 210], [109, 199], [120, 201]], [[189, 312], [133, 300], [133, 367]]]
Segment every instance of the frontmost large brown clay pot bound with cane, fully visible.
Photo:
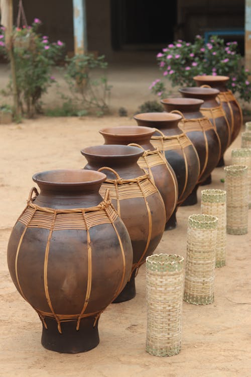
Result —
[[85, 170], [35, 174], [40, 194], [32, 189], [10, 237], [11, 277], [43, 323], [43, 346], [53, 351], [96, 347], [99, 316], [131, 273], [128, 231], [98, 193], [105, 179]]

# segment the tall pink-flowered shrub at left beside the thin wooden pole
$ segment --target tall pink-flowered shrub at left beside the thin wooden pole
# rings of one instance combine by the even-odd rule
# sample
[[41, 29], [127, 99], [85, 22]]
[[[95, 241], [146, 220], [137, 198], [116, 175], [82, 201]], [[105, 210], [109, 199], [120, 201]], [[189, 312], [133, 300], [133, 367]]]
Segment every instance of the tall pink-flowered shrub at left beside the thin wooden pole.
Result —
[[[29, 118], [41, 111], [40, 99], [55, 82], [51, 69], [60, 56], [64, 43], [50, 43], [47, 36], [37, 33], [41, 21], [34, 19], [32, 26], [14, 28], [12, 40], [16, 63], [18, 102], [22, 114]], [[5, 44], [5, 29], [0, 33], [0, 53], [8, 56], [10, 46]], [[9, 88], [12, 89], [10, 81]]]

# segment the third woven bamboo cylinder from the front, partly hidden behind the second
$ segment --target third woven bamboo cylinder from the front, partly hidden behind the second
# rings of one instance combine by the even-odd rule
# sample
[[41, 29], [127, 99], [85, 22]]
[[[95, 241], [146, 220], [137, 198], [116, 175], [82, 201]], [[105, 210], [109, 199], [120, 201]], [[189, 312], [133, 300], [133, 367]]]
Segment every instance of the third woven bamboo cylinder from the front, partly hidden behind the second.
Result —
[[224, 190], [202, 190], [201, 212], [205, 215], [216, 216], [216, 261], [215, 267], [226, 264], [226, 192]]

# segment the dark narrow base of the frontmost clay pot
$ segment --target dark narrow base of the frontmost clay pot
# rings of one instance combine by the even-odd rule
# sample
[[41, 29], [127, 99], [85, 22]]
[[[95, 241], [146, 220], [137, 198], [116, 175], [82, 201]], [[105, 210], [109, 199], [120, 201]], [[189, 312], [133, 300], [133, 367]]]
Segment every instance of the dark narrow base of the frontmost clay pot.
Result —
[[51, 351], [60, 353], [86, 352], [95, 348], [99, 343], [98, 320], [95, 327], [95, 316], [82, 318], [79, 330], [77, 321], [61, 322], [62, 334], [58, 331], [58, 324], [53, 318], [46, 317], [47, 329], [43, 324], [42, 345]]

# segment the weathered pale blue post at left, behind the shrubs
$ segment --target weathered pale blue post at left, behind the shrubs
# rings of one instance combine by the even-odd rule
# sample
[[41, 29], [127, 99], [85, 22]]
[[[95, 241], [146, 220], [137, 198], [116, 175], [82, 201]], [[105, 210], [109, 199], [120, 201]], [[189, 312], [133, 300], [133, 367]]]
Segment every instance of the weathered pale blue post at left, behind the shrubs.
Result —
[[74, 53], [87, 51], [85, 0], [73, 0]]

